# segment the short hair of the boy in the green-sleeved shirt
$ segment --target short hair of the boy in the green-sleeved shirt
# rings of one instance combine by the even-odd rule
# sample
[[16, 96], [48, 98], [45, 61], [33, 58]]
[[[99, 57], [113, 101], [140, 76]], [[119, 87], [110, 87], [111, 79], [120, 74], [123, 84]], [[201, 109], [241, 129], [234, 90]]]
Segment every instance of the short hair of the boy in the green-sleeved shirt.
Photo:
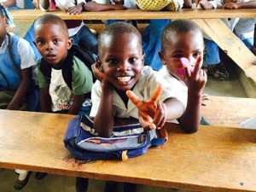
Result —
[[[67, 25], [66, 25], [65, 21], [62, 20], [61, 17], [59, 17], [57, 15], [53, 15], [53, 14], [44, 14], [44, 15], [39, 16], [38, 19], [34, 23], [34, 29], [35, 29], [35, 26], [44, 25], [47, 23], [60, 25], [62, 30], [65, 30], [67, 32]], [[68, 36], [68, 32], [67, 32], [67, 36]]]

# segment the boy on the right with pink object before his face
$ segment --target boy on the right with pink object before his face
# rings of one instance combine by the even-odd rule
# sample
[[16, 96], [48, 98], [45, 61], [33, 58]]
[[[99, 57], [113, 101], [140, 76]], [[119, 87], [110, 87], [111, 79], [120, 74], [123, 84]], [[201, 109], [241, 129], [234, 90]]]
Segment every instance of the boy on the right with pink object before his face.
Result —
[[[203, 61], [204, 40], [201, 28], [192, 20], [173, 20], [164, 29], [161, 36], [160, 59], [164, 65], [160, 74], [168, 84], [173, 84], [172, 90], [180, 96], [185, 96], [187, 109], [190, 113], [187, 125], [209, 125], [206, 119], [201, 118], [201, 96], [207, 84], [207, 73], [201, 69]], [[180, 59], [185, 57], [191, 63], [194, 72], [191, 73], [185, 67], [185, 73], [178, 73], [182, 63]], [[182, 116], [182, 118], [185, 115]], [[186, 117], [187, 118], [187, 117]]]

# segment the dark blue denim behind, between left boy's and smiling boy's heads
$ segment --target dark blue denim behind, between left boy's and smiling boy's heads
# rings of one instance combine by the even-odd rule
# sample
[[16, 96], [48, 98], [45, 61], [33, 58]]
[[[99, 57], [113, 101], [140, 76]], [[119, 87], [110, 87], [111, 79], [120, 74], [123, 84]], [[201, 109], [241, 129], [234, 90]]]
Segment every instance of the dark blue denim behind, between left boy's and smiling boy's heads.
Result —
[[87, 26], [82, 26], [79, 32], [70, 38], [73, 38], [73, 44], [79, 45], [79, 47], [86, 49], [88, 52], [90, 52], [90, 54], [97, 55], [97, 38]]

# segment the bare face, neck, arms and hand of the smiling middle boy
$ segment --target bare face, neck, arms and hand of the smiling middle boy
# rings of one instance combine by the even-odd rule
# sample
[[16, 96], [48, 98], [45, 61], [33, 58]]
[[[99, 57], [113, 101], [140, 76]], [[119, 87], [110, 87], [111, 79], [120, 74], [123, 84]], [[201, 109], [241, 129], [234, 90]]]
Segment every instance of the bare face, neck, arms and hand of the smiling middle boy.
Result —
[[[132, 90], [137, 84], [143, 70], [144, 55], [137, 35], [130, 33], [104, 37], [104, 45], [99, 50], [97, 65], [102, 69], [95, 67], [95, 73], [102, 79], [102, 95], [94, 127], [101, 137], [111, 137], [114, 125], [112, 91], [116, 90], [127, 106], [129, 98], [126, 91]], [[183, 104], [175, 98], [168, 98], [164, 102], [149, 101], [143, 102], [144, 106], [148, 106], [142, 110], [145, 115], [140, 111], [138, 115], [145, 129], [160, 129], [166, 120], [177, 119], [184, 111]]]

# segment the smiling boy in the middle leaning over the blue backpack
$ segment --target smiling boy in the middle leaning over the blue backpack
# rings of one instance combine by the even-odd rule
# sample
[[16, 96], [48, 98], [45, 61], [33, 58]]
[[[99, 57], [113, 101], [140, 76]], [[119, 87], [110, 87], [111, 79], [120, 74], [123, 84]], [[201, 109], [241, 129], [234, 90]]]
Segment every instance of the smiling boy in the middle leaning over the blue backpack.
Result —
[[[101, 77], [102, 82], [96, 80], [93, 84], [90, 116], [95, 117], [94, 128], [101, 137], [111, 137], [114, 117], [136, 118], [145, 128], [160, 129], [166, 120], [179, 119], [183, 115], [185, 106], [180, 101], [183, 98], [172, 91], [172, 84], [166, 84], [151, 67], [144, 67], [142, 37], [136, 27], [125, 22], [106, 26], [98, 38], [98, 46], [98, 67], [94, 68], [94, 73], [96, 77]], [[154, 119], [151, 123], [138, 115], [138, 109], [126, 96], [126, 91], [133, 90], [141, 100], [146, 101], [158, 84], [163, 86], [163, 92], [155, 112], [148, 111]], [[195, 132], [197, 128], [189, 125], [186, 131]], [[108, 182], [105, 192], [116, 191], [116, 187], [116, 183]], [[125, 183], [124, 191], [135, 190], [135, 184]]]

